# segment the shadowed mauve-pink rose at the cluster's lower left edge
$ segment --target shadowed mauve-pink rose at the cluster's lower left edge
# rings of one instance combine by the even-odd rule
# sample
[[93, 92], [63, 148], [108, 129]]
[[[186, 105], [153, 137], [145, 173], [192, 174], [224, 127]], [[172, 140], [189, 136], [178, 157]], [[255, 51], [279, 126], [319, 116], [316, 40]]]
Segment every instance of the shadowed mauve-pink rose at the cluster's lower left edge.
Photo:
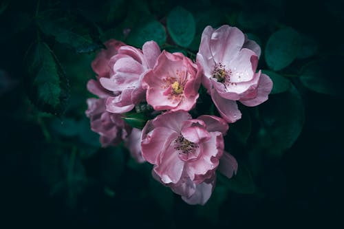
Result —
[[122, 115], [105, 111], [105, 98], [87, 99], [86, 116], [91, 121], [92, 131], [100, 134], [103, 147], [116, 146], [127, 138], [131, 127], [122, 120]]

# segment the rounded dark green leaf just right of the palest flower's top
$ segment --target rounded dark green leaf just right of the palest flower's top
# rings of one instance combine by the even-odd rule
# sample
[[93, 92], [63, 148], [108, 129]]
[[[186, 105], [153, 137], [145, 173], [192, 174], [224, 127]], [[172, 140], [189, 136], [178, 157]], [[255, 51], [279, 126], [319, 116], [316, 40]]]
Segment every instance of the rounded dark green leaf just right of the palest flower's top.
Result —
[[265, 58], [268, 66], [279, 71], [294, 61], [299, 54], [301, 38], [292, 28], [283, 28], [273, 33], [265, 48]]

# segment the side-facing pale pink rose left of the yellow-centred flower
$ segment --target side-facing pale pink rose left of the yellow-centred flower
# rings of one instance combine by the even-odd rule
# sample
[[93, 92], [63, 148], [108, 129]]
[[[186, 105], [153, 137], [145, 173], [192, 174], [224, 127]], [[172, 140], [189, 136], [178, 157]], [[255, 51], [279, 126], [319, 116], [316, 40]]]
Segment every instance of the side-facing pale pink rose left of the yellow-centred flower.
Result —
[[109, 78], [101, 77], [100, 84], [116, 96], [107, 98], [107, 111], [125, 113], [144, 100], [142, 89], [143, 75], [155, 65], [160, 48], [155, 41], [144, 43], [142, 50], [124, 45], [118, 54], [109, 61], [111, 72]]

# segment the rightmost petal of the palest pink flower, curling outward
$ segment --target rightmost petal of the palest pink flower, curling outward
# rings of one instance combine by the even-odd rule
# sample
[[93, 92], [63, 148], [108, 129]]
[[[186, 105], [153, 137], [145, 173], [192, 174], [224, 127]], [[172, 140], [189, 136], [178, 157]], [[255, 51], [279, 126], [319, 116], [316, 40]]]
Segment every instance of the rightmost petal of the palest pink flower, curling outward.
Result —
[[266, 74], [261, 74], [258, 85], [257, 97], [251, 100], [240, 100], [240, 102], [248, 107], [254, 107], [261, 104], [262, 102], [265, 102], [266, 100], [268, 100], [268, 95], [272, 90], [272, 85], [273, 84], [270, 77]]

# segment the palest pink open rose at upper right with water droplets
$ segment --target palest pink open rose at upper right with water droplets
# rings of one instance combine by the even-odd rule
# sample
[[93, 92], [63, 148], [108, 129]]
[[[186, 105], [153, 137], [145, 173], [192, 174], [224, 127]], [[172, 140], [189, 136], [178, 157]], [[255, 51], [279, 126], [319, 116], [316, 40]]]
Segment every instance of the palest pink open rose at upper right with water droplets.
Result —
[[253, 107], [268, 100], [272, 80], [256, 73], [260, 47], [238, 28], [222, 25], [217, 30], [207, 26], [197, 53], [203, 68], [202, 84], [222, 118], [235, 122], [241, 118], [237, 100]]

